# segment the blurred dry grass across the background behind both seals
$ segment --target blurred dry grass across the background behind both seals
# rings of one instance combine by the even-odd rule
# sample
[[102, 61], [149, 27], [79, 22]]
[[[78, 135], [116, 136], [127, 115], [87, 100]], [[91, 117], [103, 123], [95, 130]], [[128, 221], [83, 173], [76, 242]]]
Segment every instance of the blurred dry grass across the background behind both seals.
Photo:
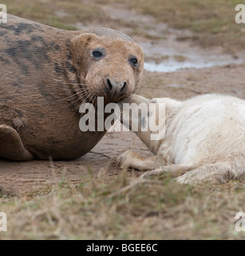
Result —
[[[229, 52], [244, 48], [244, 26], [235, 23], [235, 6], [241, 3], [240, 0], [96, 0], [93, 2], [23, 0], [21, 4], [18, 0], [6, 0], [5, 4], [11, 14], [49, 26], [75, 30], [78, 22], [84, 25], [96, 22], [106, 26], [110, 18], [106, 11], [101, 10], [101, 6], [118, 4], [118, 2], [125, 9], [151, 15], [156, 21], [166, 22], [172, 28], [192, 30], [191, 37], [180, 36], [180, 40], [191, 38], [201, 46], [223, 46]], [[126, 25], [132, 27], [132, 30], [138, 29], [136, 23], [126, 20], [109, 24], [113, 28]], [[143, 30], [141, 36], [152, 40], [164, 38], [161, 34], [149, 34], [147, 30]]]

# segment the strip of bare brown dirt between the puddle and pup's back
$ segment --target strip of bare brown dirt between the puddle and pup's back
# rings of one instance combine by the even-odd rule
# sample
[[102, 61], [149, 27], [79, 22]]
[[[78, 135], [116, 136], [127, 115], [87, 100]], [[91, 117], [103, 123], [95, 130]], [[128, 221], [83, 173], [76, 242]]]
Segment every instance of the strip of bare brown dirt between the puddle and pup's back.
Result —
[[171, 97], [181, 100], [211, 93], [245, 98], [244, 67], [244, 64], [231, 64], [174, 73], [146, 72], [140, 94], [146, 97]]

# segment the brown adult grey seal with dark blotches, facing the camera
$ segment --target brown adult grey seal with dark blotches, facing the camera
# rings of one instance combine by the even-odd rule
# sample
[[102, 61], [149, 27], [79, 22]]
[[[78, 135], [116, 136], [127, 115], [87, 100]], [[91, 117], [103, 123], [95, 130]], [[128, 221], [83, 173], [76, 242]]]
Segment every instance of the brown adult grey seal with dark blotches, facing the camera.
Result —
[[81, 157], [106, 133], [79, 129], [81, 103], [119, 102], [140, 86], [143, 50], [117, 30], [58, 30], [8, 15], [0, 37], [0, 158]]

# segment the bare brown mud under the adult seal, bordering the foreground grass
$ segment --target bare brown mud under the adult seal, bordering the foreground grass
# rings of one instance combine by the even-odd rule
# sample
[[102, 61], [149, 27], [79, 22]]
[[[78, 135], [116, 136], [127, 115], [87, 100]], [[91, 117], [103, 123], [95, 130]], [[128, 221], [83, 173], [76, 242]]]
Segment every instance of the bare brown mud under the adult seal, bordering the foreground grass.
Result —
[[[106, 134], [89, 154], [75, 161], [9, 162], [0, 160], [0, 190], [2, 194], [18, 196], [48, 194], [53, 185], [67, 182], [69, 186], [76, 187], [88, 180], [90, 174], [95, 179], [99, 179], [102, 173], [108, 174], [107, 182], [109, 182], [120, 171], [109, 168], [109, 162], [130, 147], [136, 148], [140, 154], [150, 154], [135, 134], [117, 132]], [[139, 174], [133, 172], [128, 175], [138, 176]]]

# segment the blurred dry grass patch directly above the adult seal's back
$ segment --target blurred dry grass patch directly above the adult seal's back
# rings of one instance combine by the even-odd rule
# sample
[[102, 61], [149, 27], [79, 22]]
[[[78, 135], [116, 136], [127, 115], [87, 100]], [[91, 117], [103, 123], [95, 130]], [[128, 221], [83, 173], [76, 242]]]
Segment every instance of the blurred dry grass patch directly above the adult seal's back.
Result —
[[105, 14], [94, 2], [6, 0], [8, 13], [65, 30], [77, 30], [76, 23], [102, 22]]

